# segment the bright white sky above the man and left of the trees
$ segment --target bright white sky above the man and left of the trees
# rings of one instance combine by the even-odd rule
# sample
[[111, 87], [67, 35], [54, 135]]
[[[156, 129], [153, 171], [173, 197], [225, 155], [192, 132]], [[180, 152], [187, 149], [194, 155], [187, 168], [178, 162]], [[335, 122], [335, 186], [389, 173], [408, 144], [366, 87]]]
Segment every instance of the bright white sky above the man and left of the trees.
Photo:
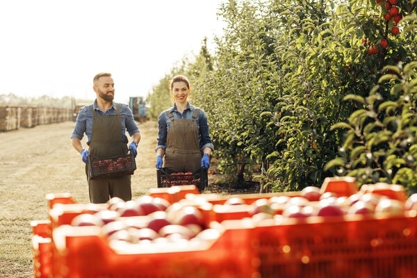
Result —
[[204, 36], [221, 33], [222, 0], [0, 2], [0, 95], [94, 99], [111, 72], [115, 100], [146, 96]]

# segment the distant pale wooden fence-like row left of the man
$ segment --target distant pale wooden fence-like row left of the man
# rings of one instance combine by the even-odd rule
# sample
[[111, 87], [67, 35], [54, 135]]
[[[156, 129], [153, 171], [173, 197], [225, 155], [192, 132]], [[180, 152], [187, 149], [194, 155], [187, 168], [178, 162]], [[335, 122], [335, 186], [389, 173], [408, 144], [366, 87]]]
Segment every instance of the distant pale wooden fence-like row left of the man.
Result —
[[0, 106], [0, 131], [72, 121], [72, 108]]

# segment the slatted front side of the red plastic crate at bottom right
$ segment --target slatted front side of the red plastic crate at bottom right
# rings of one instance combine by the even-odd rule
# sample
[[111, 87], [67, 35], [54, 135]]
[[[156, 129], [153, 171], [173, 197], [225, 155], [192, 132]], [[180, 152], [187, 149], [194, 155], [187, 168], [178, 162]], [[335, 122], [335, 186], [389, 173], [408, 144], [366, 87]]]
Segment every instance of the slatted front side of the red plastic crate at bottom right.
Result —
[[417, 277], [415, 211], [351, 216], [265, 220], [256, 227], [261, 277]]

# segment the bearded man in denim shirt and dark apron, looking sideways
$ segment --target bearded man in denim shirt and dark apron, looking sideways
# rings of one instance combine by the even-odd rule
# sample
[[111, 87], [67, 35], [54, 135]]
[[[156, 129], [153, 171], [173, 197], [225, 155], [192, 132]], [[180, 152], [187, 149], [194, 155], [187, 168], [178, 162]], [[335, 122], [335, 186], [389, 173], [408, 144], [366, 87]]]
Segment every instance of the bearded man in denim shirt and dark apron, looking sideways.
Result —
[[[126, 104], [113, 102], [115, 83], [110, 73], [102, 72], [93, 79], [93, 90], [97, 97], [93, 104], [80, 109], [72, 131], [72, 146], [81, 154], [87, 175], [90, 202], [106, 203], [111, 197], [120, 197], [125, 201], [131, 199], [131, 175], [121, 177], [95, 178], [89, 177], [88, 155], [95, 158], [107, 158], [127, 154], [128, 138], [133, 142], [129, 145], [133, 156], [137, 155], [140, 141], [140, 130], [133, 120], [133, 113]], [[87, 136], [88, 150], [84, 149], [81, 140]]]

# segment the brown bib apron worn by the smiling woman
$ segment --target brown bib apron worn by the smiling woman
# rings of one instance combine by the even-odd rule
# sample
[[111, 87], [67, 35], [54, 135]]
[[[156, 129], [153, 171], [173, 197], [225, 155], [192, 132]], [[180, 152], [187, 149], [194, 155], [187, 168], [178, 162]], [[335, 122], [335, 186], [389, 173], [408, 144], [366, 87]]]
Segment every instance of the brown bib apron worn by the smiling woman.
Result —
[[164, 167], [169, 172], [195, 172], [201, 168], [202, 150], [199, 148], [197, 119], [199, 109], [195, 109], [193, 119], [171, 119], [167, 132]]

